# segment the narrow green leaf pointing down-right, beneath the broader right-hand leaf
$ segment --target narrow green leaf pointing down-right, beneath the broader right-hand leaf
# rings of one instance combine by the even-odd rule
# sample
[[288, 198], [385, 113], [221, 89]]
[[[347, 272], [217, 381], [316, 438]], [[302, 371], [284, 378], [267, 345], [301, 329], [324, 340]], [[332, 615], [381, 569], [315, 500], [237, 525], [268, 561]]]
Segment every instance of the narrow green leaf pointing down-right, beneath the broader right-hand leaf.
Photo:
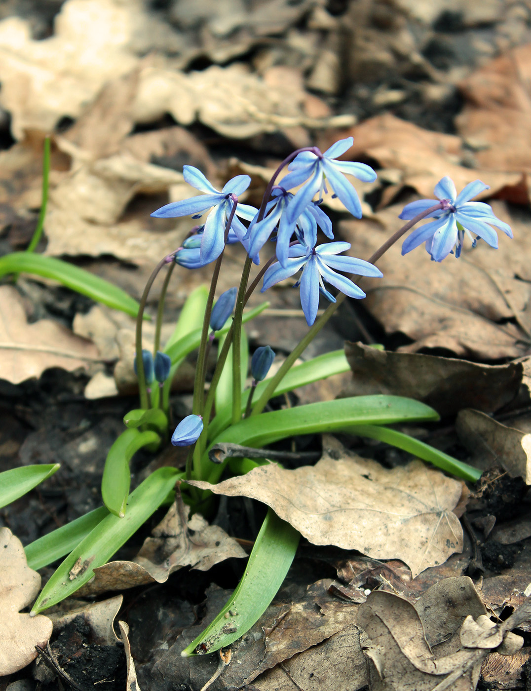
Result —
[[348, 431], [360, 437], [378, 439], [379, 442], [385, 442], [386, 444], [401, 448], [403, 451], [407, 451], [407, 453], [412, 453], [414, 456], [422, 458], [423, 461], [434, 464], [434, 466], [441, 468], [441, 470], [447, 473], [451, 473], [456, 477], [462, 477], [463, 480], [476, 482], [481, 477], [481, 471], [478, 468], [458, 461], [456, 458], [447, 455], [447, 453], [438, 451], [437, 448], [429, 446], [429, 444], [425, 444], [403, 432], [378, 425], [356, 425]]

